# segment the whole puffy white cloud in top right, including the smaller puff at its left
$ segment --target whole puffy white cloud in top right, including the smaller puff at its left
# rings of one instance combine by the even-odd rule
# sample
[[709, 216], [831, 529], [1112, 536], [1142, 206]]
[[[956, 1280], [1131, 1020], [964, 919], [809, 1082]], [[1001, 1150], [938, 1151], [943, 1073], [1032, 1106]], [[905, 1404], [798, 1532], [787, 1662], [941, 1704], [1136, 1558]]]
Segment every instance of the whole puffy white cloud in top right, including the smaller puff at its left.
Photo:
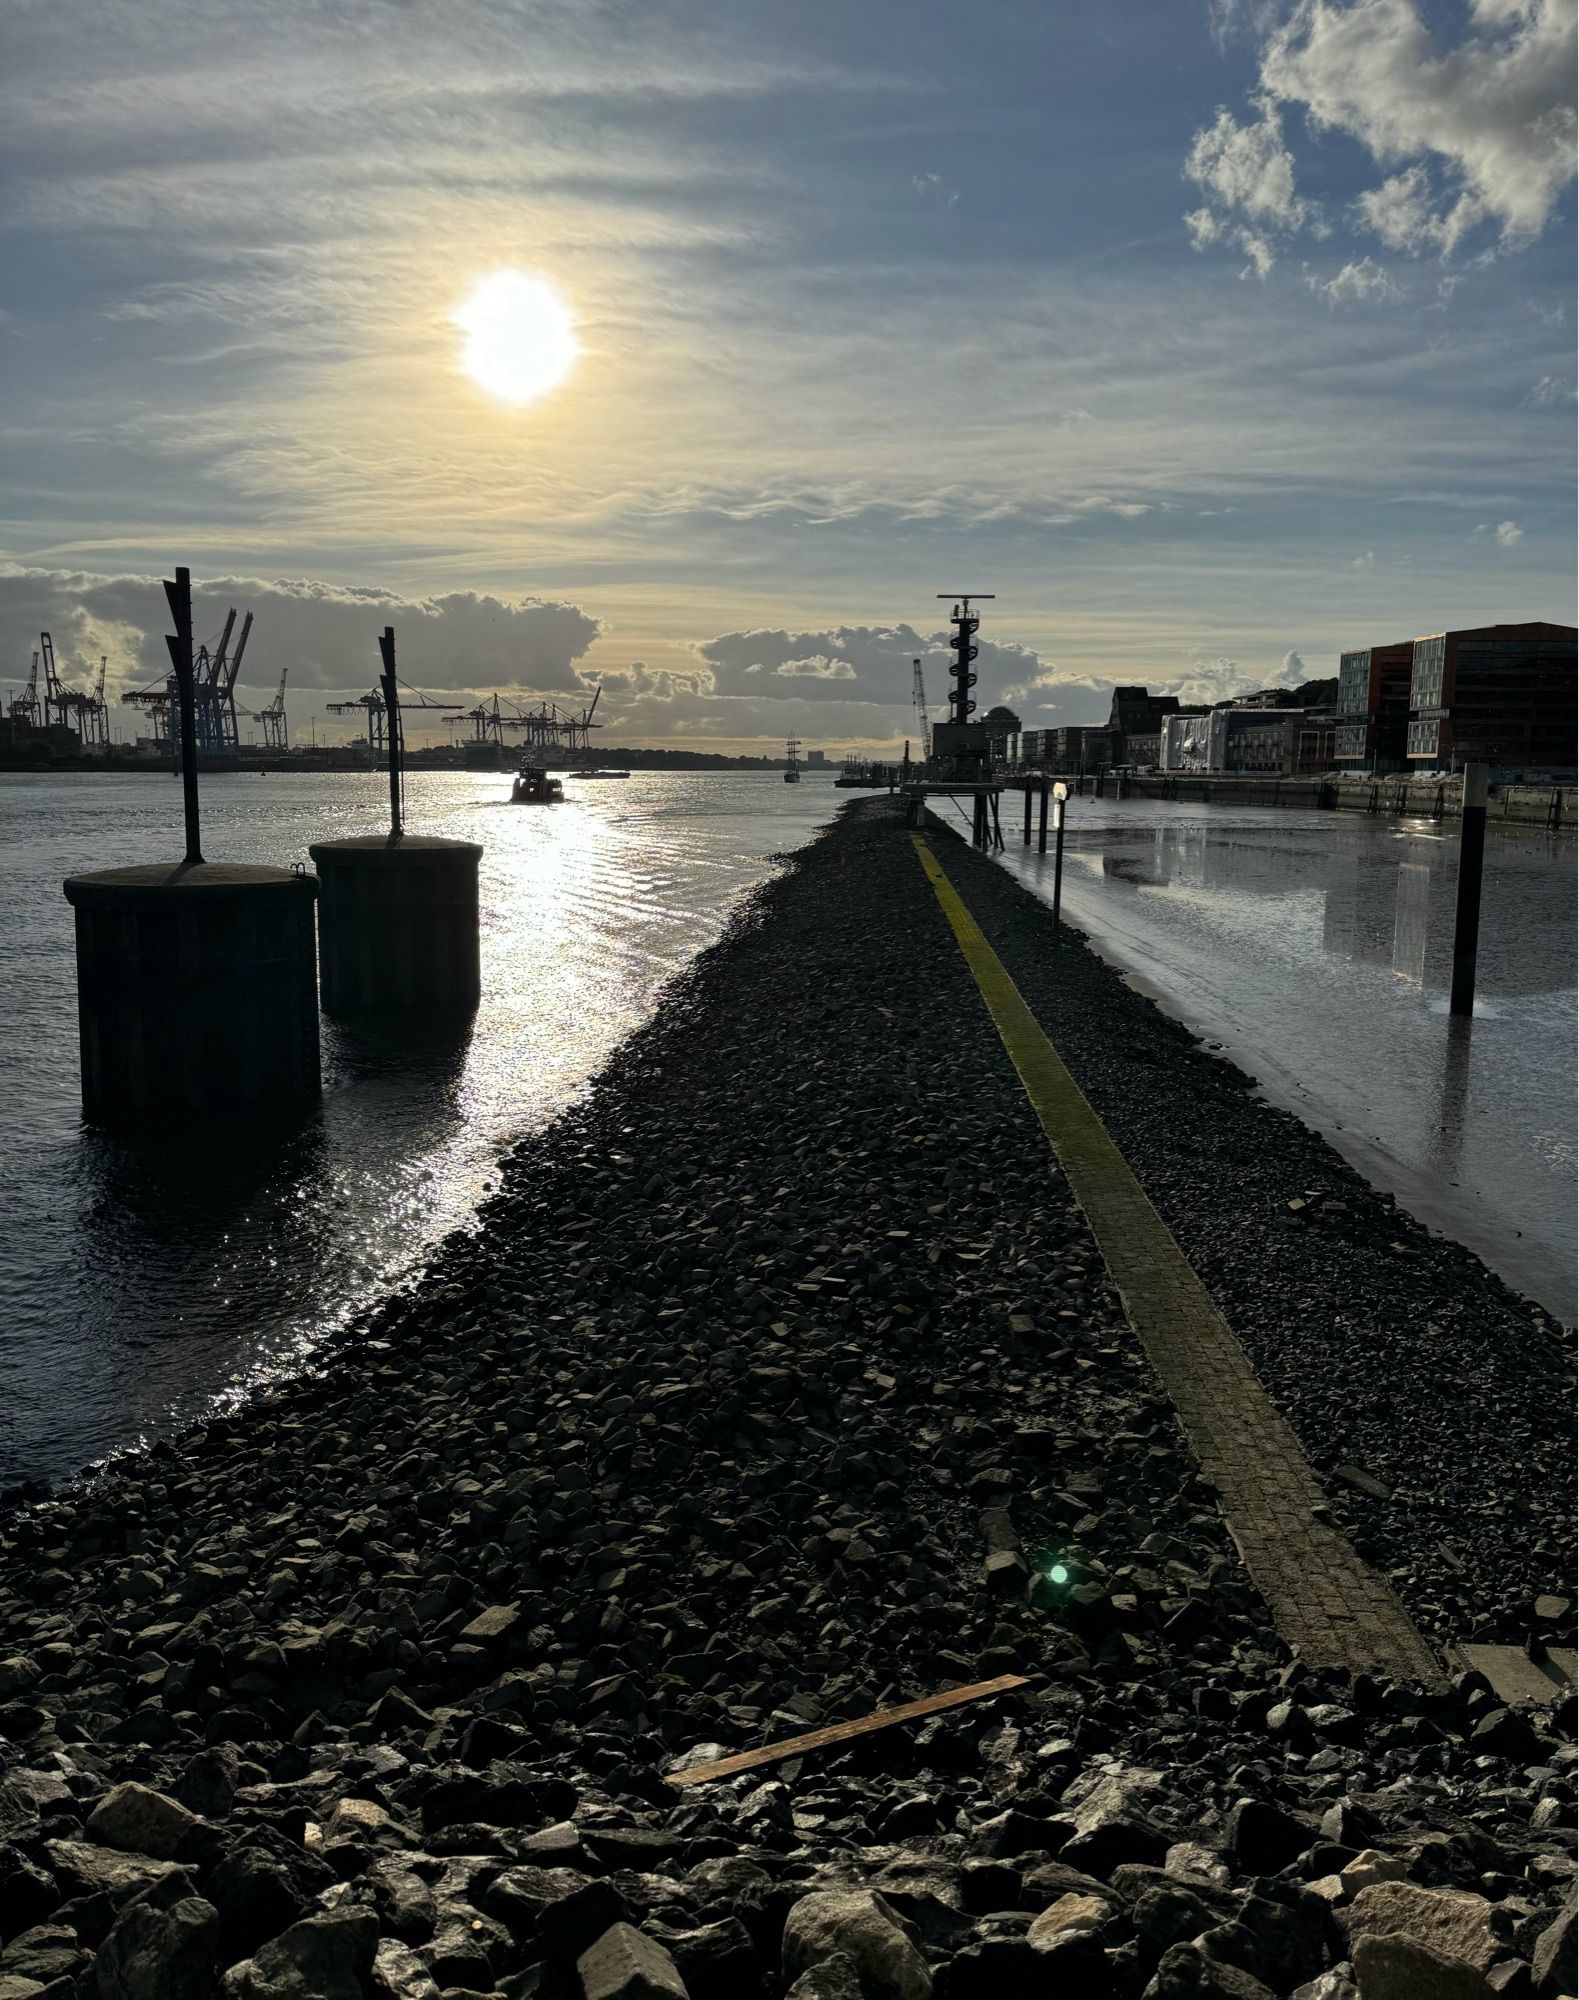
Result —
[[1529, 242], [1575, 172], [1575, 20], [1573, 0], [1469, 0], [1447, 38], [1419, 0], [1297, 0], [1281, 20], [1257, 10], [1255, 116], [1219, 110], [1185, 158], [1207, 194], [1185, 216], [1191, 242], [1269, 268], [1279, 236], [1321, 230], [1319, 206], [1295, 192], [1285, 106], [1393, 168], [1349, 212], [1385, 248], [1451, 256], [1481, 226], [1505, 248]]

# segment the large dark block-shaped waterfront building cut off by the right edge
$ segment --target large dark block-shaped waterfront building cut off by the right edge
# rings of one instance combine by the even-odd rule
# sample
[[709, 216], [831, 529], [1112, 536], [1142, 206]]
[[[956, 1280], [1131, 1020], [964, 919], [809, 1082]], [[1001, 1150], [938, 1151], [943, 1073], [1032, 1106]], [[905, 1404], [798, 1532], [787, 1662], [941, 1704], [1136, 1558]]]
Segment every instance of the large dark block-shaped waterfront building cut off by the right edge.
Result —
[[1575, 770], [1573, 626], [1475, 626], [1417, 638], [1409, 672], [1413, 770], [1487, 764], [1493, 778]]

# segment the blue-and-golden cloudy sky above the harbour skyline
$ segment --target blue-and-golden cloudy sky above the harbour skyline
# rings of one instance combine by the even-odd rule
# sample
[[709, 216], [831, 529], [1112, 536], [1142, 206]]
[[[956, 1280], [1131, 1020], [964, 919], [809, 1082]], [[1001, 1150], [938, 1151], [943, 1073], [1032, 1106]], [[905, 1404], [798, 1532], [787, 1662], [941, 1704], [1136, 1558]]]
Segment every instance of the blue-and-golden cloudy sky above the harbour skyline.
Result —
[[162, 678], [176, 564], [320, 742], [386, 624], [837, 752], [939, 712], [939, 592], [1027, 728], [1571, 622], [1577, 4], [14, 0], [0, 690]]

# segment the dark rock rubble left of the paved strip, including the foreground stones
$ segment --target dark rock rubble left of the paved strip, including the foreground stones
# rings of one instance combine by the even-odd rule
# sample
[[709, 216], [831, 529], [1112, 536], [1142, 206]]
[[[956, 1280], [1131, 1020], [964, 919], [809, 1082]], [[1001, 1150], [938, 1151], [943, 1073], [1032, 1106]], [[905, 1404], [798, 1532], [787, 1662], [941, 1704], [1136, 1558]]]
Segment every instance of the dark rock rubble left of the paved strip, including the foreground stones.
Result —
[[0, 2000], [1573, 1992], [1571, 1708], [1287, 1656], [885, 802], [322, 1378], [0, 1532]]

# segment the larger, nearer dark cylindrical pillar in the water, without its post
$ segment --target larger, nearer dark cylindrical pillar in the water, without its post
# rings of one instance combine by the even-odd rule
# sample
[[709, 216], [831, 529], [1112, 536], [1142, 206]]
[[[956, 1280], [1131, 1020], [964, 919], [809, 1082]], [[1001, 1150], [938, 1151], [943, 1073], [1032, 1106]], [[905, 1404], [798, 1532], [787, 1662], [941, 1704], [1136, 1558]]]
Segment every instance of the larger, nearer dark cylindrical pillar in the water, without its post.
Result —
[[258, 1126], [316, 1102], [316, 892], [232, 862], [70, 876], [88, 1116]]

